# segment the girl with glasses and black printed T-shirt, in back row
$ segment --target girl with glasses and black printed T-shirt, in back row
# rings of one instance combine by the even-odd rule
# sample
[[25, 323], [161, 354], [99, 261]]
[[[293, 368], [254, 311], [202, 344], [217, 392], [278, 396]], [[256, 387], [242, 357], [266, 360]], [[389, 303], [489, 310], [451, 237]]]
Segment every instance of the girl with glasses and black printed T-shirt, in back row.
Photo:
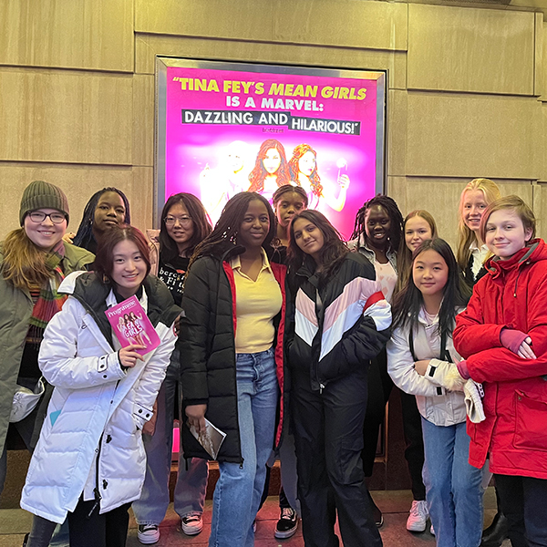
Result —
[[[158, 275], [175, 300], [181, 305], [182, 285], [188, 270], [191, 253], [211, 232], [207, 213], [196, 196], [177, 193], [170, 196], [161, 212], [160, 233], [149, 231], [151, 273]], [[157, 237], [154, 237], [157, 236]], [[170, 502], [169, 476], [173, 419], [179, 418], [181, 397], [179, 379], [181, 357], [175, 349], [170, 358], [167, 375], [160, 388], [156, 405], [155, 427], [145, 426], [144, 448], [147, 452], [146, 479], [133, 512], [139, 525], [139, 542], [150, 544], [160, 539], [160, 522]], [[179, 459], [182, 450], [179, 449]], [[201, 532], [203, 503], [207, 490], [208, 465], [205, 459], [188, 459], [188, 466], [179, 466], [174, 493], [174, 509], [181, 517], [181, 530], [187, 535]]]

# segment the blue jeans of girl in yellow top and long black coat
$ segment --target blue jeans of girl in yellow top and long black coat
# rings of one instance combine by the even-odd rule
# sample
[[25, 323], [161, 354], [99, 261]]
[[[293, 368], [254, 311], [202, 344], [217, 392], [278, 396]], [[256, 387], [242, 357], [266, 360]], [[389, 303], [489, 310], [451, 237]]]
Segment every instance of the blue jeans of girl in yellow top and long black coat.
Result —
[[253, 520], [274, 445], [278, 384], [274, 350], [238, 354], [237, 408], [243, 464], [219, 462], [209, 547], [253, 547]]

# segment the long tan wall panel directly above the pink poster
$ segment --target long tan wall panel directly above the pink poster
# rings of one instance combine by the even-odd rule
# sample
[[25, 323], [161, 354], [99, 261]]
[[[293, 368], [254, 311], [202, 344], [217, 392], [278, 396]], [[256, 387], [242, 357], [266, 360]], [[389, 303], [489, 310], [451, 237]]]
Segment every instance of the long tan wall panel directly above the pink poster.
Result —
[[406, 50], [407, 13], [356, 0], [135, 0], [135, 31]]

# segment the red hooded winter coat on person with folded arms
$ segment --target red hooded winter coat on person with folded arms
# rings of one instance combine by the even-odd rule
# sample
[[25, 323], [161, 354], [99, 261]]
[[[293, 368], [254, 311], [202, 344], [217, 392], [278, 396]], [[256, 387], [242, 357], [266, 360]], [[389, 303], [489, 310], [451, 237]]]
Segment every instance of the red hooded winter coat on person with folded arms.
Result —
[[[508, 261], [492, 260], [456, 318], [454, 346], [484, 387], [486, 419], [468, 420], [470, 464], [547, 479], [547, 245], [540, 239]], [[501, 346], [503, 327], [532, 338], [537, 359]]]

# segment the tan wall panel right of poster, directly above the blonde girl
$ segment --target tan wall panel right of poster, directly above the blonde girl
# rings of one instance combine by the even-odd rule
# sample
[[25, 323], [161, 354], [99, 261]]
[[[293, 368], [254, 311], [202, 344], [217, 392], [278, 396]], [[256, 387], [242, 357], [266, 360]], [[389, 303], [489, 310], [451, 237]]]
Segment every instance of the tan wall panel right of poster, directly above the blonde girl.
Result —
[[538, 179], [541, 105], [533, 98], [409, 92], [407, 174]]

